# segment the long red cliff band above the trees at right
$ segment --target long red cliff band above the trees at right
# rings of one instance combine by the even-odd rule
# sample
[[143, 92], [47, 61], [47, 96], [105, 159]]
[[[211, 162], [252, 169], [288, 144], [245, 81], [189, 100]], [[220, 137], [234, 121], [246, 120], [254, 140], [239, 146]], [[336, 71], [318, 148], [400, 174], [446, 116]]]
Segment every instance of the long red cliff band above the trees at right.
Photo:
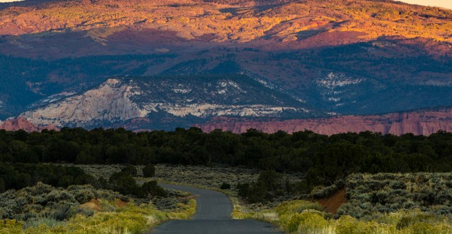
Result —
[[431, 135], [439, 130], [452, 132], [452, 109], [439, 111], [415, 111], [388, 113], [383, 116], [338, 116], [333, 118], [311, 118], [297, 120], [243, 120], [239, 118], [215, 118], [203, 125], [197, 125], [205, 132], [215, 129], [244, 133], [255, 128], [265, 133], [283, 130], [287, 133], [311, 130], [314, 133], [333, 135], [337, 133], [371, 131], [403, 135]]

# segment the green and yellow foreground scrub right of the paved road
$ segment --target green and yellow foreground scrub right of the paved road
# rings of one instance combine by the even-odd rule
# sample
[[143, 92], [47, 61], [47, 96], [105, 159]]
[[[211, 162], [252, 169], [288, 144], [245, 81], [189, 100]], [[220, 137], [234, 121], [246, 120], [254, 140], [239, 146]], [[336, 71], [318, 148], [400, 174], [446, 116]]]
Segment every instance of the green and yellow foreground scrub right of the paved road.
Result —
[[[295, 200], [236, 215], [274, 223], [286, 233], [451, 233], [451, 176], [353, 174], [345, 181], [348, 202], [337, 214], [324, 212], [319, 203]], [[328, 191], [331, 187], [323, 194]]]

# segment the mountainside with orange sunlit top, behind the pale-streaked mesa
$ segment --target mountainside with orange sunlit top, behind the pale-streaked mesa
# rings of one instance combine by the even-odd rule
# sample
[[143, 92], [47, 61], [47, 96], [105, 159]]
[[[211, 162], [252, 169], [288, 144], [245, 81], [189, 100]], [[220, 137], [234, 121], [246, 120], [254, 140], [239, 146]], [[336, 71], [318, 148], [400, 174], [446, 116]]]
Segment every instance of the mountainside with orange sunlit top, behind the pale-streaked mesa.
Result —
[[[316, 113], [275, 116], [263, 108], [252, 118], [376, 115], [452, 104], [452, 11], [442, 8], [364, 0], [100, 0], [0, 9], [2, 119], [34, 113], [30, 121], [41, 124], [37, 119], [47, 117], [37, 116], [40, 110], [58, 112], [50, 110], [54, 104], [43, 107], [45, 100], [127, 76], [243, 74]], [[254, 101], [268, 103], [269, 94], [263, 90]], [[234, 97], [222, 104], [233, 105]], [[181, 117], [170, 114], [153, 119]], [[206, 113], [201, 122], [218, 116], [228, 115]], [[196, 118], [181, 123], [200, 123]], [[105, 125], [119, 122], [102, 118]], [[160, 123], [151, 126], [168, 127]]]

